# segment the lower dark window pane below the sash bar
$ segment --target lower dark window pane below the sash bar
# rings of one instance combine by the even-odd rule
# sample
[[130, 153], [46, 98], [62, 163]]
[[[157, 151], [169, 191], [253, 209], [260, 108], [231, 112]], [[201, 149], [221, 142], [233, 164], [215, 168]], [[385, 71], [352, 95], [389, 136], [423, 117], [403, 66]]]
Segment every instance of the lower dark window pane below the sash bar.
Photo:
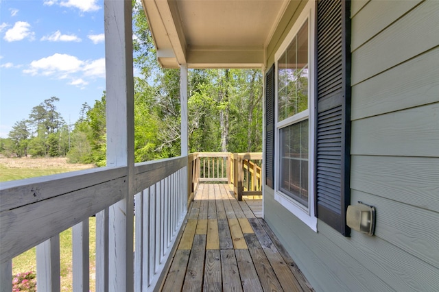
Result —
[[283, 127], [279, 189], [308, 207], [308, 120]]

